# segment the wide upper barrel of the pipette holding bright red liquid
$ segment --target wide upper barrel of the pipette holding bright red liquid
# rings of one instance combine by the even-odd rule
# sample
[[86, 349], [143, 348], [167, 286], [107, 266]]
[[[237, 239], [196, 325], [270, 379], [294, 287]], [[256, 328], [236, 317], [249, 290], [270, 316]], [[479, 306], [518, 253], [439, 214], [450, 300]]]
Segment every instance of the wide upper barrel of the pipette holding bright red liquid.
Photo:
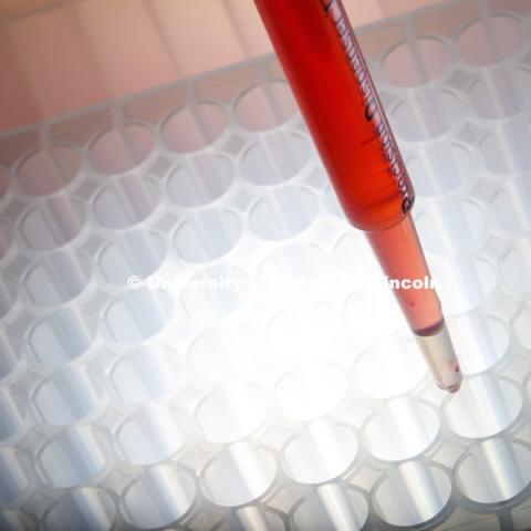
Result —
[[334, 14], [341, 4], [329, 2], [257, 6], [346, 216], [363, 230], [378, 230], [404, 218], [414, 191], [357, 42], [350, 34], [346, 48], [339, 38]]

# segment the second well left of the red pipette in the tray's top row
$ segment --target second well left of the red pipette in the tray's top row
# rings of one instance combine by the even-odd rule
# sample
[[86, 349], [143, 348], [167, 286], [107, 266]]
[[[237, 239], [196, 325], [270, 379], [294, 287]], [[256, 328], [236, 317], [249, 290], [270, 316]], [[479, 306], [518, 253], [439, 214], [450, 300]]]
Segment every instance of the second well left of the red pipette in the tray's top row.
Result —
[[226, 127], [225, 110], [198, 103], [171, 114], [163, 124], [165, 145], [177, 153], [197, 152], [216, 142]]

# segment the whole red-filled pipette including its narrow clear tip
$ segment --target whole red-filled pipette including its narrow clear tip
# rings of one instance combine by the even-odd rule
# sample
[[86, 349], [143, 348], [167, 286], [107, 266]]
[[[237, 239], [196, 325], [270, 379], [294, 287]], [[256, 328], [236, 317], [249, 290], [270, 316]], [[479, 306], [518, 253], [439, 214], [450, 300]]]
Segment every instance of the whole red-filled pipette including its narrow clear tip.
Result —
[[[348, 220], [389, 279], [429, 270], [409, 216], [414, 190], [340, 0], [254, 0]], [[437, 383], [461, 376], [433, 289], [394, 290]]]

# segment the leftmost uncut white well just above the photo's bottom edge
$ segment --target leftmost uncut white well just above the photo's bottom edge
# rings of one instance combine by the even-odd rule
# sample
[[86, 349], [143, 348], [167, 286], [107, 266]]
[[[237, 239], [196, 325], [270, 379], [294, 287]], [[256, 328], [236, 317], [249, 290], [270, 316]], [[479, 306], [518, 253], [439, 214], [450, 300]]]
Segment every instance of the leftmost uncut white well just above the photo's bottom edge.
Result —
[[140, 529], [169, 525], [190, 509], [196, 498], [192, 476], [174, 466], [148, 468], [124, 491], [121, 512]]

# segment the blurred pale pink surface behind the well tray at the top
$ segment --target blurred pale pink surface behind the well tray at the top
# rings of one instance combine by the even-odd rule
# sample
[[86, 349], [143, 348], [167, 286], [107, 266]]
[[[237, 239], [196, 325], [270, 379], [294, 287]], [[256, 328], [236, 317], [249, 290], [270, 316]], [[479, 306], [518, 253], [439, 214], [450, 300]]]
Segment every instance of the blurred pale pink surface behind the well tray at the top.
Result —
[[[344, 0], [355, 27], [437, 0]], [[0, 0], [0, 129], [271, 52], [251, 0]]]

